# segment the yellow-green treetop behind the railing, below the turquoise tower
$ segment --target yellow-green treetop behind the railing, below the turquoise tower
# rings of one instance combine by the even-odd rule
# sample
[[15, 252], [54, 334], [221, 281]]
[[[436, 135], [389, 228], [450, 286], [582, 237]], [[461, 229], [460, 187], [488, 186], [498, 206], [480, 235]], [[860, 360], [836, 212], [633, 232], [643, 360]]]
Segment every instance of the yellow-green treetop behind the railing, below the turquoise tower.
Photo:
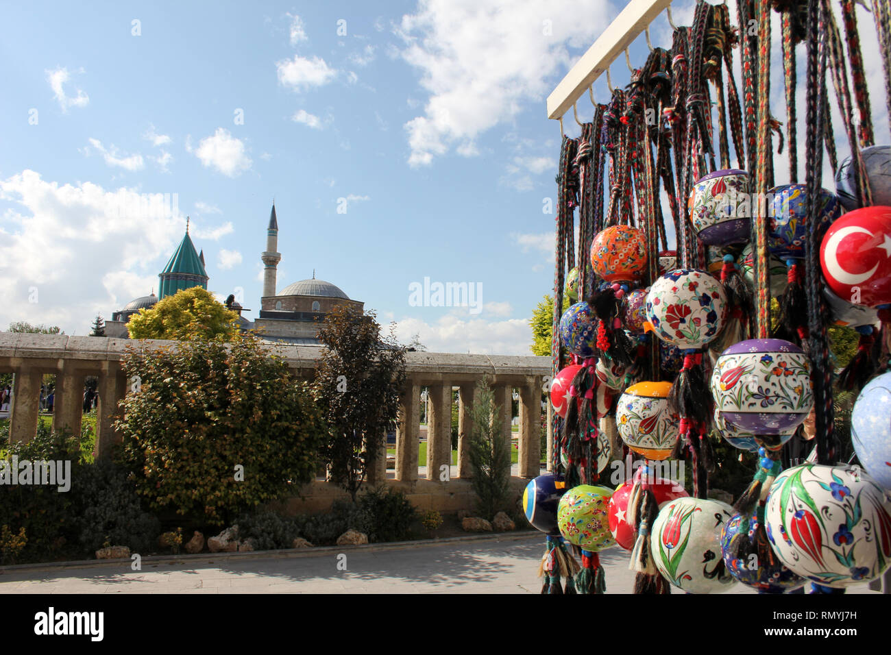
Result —
[[130, 317], [130, 339], [231, 340], [238, 334], [238, 314], [210, 291], [192, 287], [161, 299]]

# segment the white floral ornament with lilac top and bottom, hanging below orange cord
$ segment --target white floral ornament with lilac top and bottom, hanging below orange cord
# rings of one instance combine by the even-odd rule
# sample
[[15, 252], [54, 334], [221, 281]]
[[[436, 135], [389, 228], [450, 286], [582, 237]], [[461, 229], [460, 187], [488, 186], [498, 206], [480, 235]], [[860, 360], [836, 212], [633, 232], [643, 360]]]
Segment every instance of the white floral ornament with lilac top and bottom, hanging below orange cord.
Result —
[[709, 384], [723, 420], [754, 435], [794, 430], [813, 406], [811, 364], [781, 339], [750, 339], [721, 353]]

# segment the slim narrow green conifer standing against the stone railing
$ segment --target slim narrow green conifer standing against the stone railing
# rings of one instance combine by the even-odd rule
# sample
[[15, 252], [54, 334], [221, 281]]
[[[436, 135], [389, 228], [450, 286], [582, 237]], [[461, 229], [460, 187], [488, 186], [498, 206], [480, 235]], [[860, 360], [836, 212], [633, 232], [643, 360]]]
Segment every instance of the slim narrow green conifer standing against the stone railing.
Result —
[[474, 389], [470, 407], [470, 469], [477, 509], [491, 520], [504, 509], [511, 481], [511, 442], [502, 435], [502, 417], [495, 405], [495, 392], [488, 376]]

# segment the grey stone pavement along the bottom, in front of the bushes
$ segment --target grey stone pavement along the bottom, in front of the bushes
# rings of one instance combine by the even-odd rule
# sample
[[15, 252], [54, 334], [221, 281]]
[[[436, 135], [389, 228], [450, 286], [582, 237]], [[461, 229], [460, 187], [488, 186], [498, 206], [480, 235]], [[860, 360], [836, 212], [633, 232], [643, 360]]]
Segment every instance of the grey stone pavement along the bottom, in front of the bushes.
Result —
[[[280, 552], [281, 553], [281, 552]], [[295, 553], [284, 552], [284, 553]], [[325, 549], [300, 556], [206, 555], [176, 563], [143, 561], [0, 572], [0, 594], [538, 594], [544, 538], [530, 533], [484, 541]], [[339, 561], [346, 555], [346, 570]], [[607, 591], [631, 593], [634, 574], [618, 548], [601, 553]], [[342, 565], [341, 565], [342, 568]], [[870, 592], [858, 585], [854, 593]], [[751, 594], [733, 585], [729, 594]]]

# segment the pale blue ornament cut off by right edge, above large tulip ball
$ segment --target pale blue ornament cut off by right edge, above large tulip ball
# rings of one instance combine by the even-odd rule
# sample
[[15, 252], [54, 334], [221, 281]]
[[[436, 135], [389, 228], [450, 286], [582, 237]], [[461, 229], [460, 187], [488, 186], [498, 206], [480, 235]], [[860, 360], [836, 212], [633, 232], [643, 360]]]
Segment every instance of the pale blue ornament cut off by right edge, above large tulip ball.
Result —
[[863, 468], [891, 490], [891, 373], [863, 387], [851, 413], [851, 438]]

